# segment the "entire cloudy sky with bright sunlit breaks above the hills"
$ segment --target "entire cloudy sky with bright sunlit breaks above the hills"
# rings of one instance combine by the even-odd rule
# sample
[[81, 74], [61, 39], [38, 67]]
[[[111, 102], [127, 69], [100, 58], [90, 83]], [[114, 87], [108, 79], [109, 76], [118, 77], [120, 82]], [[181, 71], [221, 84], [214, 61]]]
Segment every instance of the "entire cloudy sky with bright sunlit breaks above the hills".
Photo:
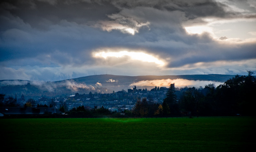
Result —
[[255, 0], [1, 0], [0, 80], [256, 73]]

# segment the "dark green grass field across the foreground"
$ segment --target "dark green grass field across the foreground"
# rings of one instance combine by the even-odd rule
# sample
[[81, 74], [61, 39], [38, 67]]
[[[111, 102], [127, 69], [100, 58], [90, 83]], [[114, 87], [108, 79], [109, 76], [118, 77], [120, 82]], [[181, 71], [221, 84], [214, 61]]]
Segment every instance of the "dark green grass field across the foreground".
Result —
[[244, 152], [256, 118], [0, 119], [1, 149], [15, 152]]

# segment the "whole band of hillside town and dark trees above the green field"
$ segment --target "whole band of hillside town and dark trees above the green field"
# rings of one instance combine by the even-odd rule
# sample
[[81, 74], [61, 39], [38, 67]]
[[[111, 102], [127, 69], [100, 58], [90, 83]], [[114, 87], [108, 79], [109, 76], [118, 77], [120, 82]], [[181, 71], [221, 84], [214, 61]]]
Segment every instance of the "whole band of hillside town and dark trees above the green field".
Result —
[[[75, 93], [66, 97], [40, 97], [37, 100], [5, 97], [0, 94], [0, 116], [23, 114], [67, 114], [68, 116], [120, 115], [132, 117], [187, 116], [255, 116], [256, 78], [236, 75], [224, 84], [214, 83], [204, 87], [169, 88], [151, 90], [121, 90], [108, 94]], [[60, 113], [60, 112], [61, 113]], [[1, 114], [2, 113], [2, 114]]]

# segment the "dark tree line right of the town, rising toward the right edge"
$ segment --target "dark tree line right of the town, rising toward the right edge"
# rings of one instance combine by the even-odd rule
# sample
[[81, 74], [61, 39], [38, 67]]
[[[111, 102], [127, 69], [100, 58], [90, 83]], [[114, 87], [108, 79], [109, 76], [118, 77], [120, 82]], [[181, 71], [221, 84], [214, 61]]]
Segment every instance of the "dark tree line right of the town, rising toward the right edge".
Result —
[[162, 104], [148, 105], [144, 98], [126, 112], [135, 117], [256, 116], [256, 78], [252, 74], [236, 75], [217, 87], [208, 84], [176, 89], [170, 85]]

